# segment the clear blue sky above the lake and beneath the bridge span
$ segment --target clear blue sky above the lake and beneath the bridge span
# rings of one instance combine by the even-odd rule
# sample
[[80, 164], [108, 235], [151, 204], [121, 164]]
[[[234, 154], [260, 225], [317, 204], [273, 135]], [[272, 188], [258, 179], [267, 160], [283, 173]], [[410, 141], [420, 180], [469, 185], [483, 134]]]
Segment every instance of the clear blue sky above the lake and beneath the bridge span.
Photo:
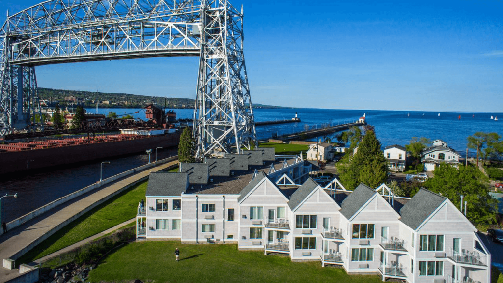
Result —
[[[40, 1], [0, 0], [5, 21]], [[254, 103], [501, 112], [503, 1], [248, 1]], [[37, 68], [40, 87], [194, 98], [197, 57]]]

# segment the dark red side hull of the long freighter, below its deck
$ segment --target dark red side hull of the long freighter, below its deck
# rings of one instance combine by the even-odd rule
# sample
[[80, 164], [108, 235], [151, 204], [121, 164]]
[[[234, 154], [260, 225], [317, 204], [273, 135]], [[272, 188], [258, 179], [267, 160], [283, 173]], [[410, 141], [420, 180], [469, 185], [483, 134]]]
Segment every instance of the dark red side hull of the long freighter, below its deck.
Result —
[[153, 136], [131, 136], [129, 139], [105, 142], [74, 143], [51, 147], [40, 145], [38, 148], [20, 151], [3, 151], [0, 152], [0, 174], [140, 153], [156, 147], [177, 147], [179, 142], [180, 133], [175, 132]]

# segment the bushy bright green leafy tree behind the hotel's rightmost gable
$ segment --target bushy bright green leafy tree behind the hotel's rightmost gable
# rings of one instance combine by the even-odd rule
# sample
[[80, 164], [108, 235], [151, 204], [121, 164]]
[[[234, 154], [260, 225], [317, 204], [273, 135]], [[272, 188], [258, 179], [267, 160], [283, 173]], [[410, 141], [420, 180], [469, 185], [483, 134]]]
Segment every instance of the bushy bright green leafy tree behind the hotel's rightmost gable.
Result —
[[467, 218], [476, 223], [494, 223], [496, 221], [496, 200], [487, 190], [487, 177], [471, 165], [461, 165], [459, 169], [441, 164], [433, 171], [433, 178], [424, 184], [431, 191], [449, 198], [456, 207], [460, 206], [460, 197], [467, 201]]

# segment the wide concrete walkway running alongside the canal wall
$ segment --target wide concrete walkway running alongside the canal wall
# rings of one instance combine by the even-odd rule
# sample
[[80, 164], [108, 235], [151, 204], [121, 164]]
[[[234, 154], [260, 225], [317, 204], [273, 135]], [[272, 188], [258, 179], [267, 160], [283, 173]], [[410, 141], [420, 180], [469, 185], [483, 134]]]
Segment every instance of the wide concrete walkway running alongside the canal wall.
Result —
[[[98, 190], [83, 194], [71, 201], [63, 203], [46, 213], [22, 224], [21, 226], [0, 236], [0, 259], [17, 259], [37, 244], [57, 232], [59, 229], [77, 219], [98, 204], [123, 191], [131, 184], [145, 180], [150, 172], [165, 170], [177, 165], [178, 160], [161, 164], [156, 167], [124, 177], [116, 182], [101, 187]], [[0, 282], [5, 282], [19, 276], [18, 269], [0, 268]]]

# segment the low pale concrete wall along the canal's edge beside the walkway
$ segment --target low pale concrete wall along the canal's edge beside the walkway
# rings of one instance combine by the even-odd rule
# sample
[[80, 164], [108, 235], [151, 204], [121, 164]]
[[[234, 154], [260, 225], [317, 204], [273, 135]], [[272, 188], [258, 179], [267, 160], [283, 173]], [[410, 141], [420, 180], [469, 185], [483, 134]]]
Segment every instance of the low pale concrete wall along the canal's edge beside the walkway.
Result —
[[[63, 197], [60, 197], [52, 202], [49, 202], [47, 203], [46, 205], [38, 208], [38, 209], [35, 209], [33, 211], [31, 211], [30, 213], [28, 214], [25, 214], [24, 216], [18, 218], [18, 219], [15, 219], [9, 223], [7, 223], [7, 230], [12, 230], [18, 226], [20, 226], [21, 224], [29, 221], [29, 220], [32, 220], [33, 218], [47, 212], [48, 210], [60, 205], [60, 204], [63, 204], [69, 200], [72, 200], [74, 199], [75, 197], [77, 196], [80, 196], [82, 194], [85, 194], [87, 192], [90, 192], [94, 189], [97, 189], [97, 188], [100, 188], [102, 187], [103, 185], [106, 185], [106, 184], [109, 184], [111, 182], [114, 182], [120, 178], [123, 178], [123, 177], [126, 177], [128, 175], [131, 175], [131, 174], [134, 174], [136, 172], [139, 172], [139, 171], [142, 171], [142, 170], [145, 170], [145, 169], [148, 169], [148, 168], [151, 168], [151, 167], [155, 167], [157, 165], [160, 165], [160, 164], [164, 164], [164, 163], [167, 163], [167, 162], [171, 162], [171, 161], [174, 161], [174, 160], [177, 160], [178, 159], [178, 155], [177, 156], [173, 156], [173, 157], [170, 157], [170, 158], [166, 158], [166, 159], [162, 159], [162, 160], [159, 160], [157, 162], [152, 162], [150, 164], [146, 164], [146, 165], [143, 165], [143, 166], [140, 166], [140, 167], [137, 167], [137, 168], [134, 168], [134, 169], [131, 169], [131, 170], [128, 170], [128, 171], [125, 171], [125, 172], [122, 172], [118, 175], [115, 175], [115, 176], [112, 176], [110, 178], [107, 178], [105, 180], [103, 180], [102, 182], [97, 182], [95, 184], [92, 184], [90, 186], [87, 186], [85, 188], [82, 188], [78, 191], [75, 191], [75, 192], [72, 192], [70, 194], [67, 194]], [[3, 234], [3, 229], [2, 231], [0, 231], [0, 235]]]

